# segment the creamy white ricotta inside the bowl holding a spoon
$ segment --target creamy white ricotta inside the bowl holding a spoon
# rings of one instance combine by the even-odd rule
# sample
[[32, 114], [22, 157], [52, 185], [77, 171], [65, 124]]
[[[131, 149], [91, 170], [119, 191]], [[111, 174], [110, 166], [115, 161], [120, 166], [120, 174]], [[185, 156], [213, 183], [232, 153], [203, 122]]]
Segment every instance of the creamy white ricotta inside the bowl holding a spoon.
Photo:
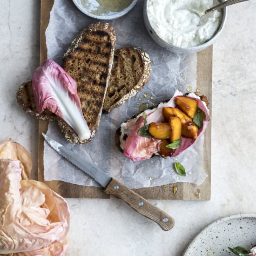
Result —
[[213, 37], [221, 24], [220, 11], [208, 13], [200, 20], [188, 9], [204, 11], [219, 0], [149, 0], [148, 19], [163, 40], [177, 47], [195, 47]]

